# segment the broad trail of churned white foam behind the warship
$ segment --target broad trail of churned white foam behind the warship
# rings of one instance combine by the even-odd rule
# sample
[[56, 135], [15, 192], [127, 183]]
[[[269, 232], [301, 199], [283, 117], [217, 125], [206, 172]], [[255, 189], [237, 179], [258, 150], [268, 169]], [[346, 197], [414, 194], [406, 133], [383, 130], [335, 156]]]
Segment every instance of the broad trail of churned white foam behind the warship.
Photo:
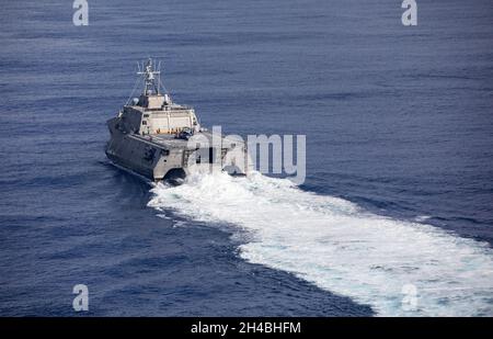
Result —
[[149, 206], [251, 234], [245, 260], [293, 272], [383, 316], [493, 315], [486, 244], [368, 213], [260, 173], [195, 174], [158, 184]]

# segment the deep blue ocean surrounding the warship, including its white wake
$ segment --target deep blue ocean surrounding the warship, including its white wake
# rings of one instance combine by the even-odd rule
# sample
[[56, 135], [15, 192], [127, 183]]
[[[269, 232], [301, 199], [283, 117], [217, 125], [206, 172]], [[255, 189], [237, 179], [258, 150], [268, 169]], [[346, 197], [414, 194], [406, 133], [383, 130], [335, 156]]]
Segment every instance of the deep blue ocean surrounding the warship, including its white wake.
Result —
[[[2, 3], [0, 315], [493, 315], [493, 4], [417, 2]], [[204, 125], [306, 134], [306, 182], [113, 167], [148, 56]]]

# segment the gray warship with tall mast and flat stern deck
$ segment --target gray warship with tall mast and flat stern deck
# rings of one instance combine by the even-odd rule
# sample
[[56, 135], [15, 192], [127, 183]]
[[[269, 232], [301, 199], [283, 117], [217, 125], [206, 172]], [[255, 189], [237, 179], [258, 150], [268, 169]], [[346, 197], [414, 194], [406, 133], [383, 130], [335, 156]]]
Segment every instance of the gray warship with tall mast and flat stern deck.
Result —
[[162, 90], [160, 65], [148, 59], [139, 64], [137, 75], [144, 81], [140, 97], [129, 99], [107, 121], [105, 152], [113, 163], [154, 182], [180, 182], [195, 171], [248, 174], [251, 161], [244, 142], [207, 131], [193, 108], [174, 103]]

